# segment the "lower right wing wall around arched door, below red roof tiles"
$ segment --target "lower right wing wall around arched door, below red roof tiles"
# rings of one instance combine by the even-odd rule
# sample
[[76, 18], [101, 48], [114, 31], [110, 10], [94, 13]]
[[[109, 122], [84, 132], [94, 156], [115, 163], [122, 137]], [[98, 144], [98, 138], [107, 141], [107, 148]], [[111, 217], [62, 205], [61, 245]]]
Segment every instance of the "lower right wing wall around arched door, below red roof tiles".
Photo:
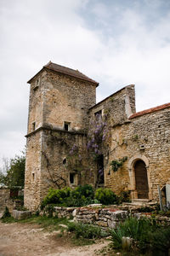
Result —
[[[134, 164], [144, 160], [149, 183], [149, 199], [158, 200], [157, 185], [170, 183], [170, 108], [130, 119], [130, 123], [115, 126], [111, 130], [111, 160], [127, 157], [117, 171], [105, 166], [105, 186], [116, 193], [122, 190], [136, 194]], [[119, 181], [117, 183], [117, 181]]]

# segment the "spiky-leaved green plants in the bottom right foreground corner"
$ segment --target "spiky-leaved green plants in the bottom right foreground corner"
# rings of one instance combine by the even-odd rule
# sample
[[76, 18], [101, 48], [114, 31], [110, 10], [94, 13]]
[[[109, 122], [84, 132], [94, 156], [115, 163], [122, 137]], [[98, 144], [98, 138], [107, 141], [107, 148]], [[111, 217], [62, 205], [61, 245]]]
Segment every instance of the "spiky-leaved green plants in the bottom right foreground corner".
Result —
[[131, 249], [148, 255], [168, 255], [170, 227], [161, 227], [147, 218], [128, 218], [116, 230], [111, 230], [113, 247], [122, 249], [122, 237], [133, 239]]

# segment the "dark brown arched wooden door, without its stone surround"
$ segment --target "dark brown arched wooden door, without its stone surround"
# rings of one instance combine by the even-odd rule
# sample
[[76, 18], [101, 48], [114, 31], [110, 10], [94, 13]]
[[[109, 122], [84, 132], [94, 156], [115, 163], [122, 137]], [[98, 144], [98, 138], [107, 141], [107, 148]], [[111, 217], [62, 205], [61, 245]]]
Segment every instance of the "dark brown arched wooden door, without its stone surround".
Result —
[[148, 199], [149, 187], [147, 169], [143, 160], [137, 160], [134, 164], [136, 191], [139, 199]]

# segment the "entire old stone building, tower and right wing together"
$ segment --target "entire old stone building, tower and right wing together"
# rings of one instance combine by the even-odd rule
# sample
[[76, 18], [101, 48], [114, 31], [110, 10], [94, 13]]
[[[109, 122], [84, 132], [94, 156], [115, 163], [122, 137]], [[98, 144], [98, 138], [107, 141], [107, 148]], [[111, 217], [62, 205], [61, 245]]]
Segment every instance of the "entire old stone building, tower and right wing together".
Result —
[[132, 84], [96, 104], [99, 83], [52, 62], [28, 83], [27, 208], [50, 187], [85, 183], [158, 199], [170, 183], [170, 103], [136, 113]]

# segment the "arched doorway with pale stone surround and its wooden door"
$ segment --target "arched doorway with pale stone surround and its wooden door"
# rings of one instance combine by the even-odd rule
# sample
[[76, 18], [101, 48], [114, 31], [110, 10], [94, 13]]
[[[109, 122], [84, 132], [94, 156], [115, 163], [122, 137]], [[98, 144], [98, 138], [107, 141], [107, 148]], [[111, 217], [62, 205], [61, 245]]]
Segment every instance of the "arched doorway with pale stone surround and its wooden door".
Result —
[[143, 154], [135, 154], [128, 161], [130, 177], [129, 189], [132, 199], [150, 198], [150, 173], [148, 172], [149, 160]]

